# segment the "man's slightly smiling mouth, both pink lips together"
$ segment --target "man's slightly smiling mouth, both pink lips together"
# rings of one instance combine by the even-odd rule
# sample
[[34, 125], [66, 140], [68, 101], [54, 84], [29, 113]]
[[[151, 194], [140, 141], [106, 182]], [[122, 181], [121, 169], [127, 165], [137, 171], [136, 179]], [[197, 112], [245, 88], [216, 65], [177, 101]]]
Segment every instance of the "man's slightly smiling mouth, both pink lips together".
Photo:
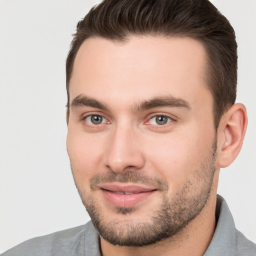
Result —
[[155, 187], [118, 183], [102, 184], [99, 188], [111, 205], [125, 208], [147, 200], [157, 191]]

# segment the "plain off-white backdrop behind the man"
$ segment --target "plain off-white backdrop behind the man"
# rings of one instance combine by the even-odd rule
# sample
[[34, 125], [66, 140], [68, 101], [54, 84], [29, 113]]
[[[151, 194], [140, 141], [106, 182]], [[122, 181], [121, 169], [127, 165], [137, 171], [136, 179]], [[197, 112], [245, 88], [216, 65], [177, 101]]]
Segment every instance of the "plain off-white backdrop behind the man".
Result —
[[[85, 223], [65, 150], [65, 57], [95, 0], [0, 0], [0, 252]], [[212, 0], [238, 41], [237, 101], [248, 129], [218, 193], [256, 242], [256, 1]]]

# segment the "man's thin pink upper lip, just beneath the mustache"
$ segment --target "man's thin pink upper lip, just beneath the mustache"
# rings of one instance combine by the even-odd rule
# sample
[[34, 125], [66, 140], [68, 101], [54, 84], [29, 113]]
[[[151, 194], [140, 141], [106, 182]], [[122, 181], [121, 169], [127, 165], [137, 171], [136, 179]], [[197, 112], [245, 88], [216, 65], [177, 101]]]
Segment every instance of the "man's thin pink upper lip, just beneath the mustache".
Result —
[[132, 184], [132, 183], [125, 183], [125, 184], [105, 183], [105, 184], [100, 184], [99, 188], [109, 190], [109, 191], [115, 191], [115, 192], [133, 192], [133, 193], [148, 192], [148, 191], [156, 190], [156, 188], [152, 186]]

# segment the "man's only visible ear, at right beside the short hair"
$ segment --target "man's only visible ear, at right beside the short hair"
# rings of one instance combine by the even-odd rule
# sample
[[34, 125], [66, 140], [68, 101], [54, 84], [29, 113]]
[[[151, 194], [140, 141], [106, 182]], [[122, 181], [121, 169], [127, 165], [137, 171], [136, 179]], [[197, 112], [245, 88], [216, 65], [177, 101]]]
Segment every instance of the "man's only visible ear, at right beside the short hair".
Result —
[[246, 108], [235, 103], [221, 117], [218, 129], [217, 165], [228, 166], [238, 155], [247, 127]]

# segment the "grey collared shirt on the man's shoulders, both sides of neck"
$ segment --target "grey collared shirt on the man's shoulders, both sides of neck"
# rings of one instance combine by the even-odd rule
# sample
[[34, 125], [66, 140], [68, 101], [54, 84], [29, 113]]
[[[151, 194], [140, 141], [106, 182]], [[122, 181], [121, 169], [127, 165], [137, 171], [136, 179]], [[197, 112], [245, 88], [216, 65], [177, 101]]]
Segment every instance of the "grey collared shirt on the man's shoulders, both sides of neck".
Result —
[[[235, 226], [225, 200], [217, 196], [217, 225], [204, 256], [256, 256], [256, 244]], [[91, 221], [52, 234], [27, 240], [2, 256], [100, 256], [99, 236]]]

